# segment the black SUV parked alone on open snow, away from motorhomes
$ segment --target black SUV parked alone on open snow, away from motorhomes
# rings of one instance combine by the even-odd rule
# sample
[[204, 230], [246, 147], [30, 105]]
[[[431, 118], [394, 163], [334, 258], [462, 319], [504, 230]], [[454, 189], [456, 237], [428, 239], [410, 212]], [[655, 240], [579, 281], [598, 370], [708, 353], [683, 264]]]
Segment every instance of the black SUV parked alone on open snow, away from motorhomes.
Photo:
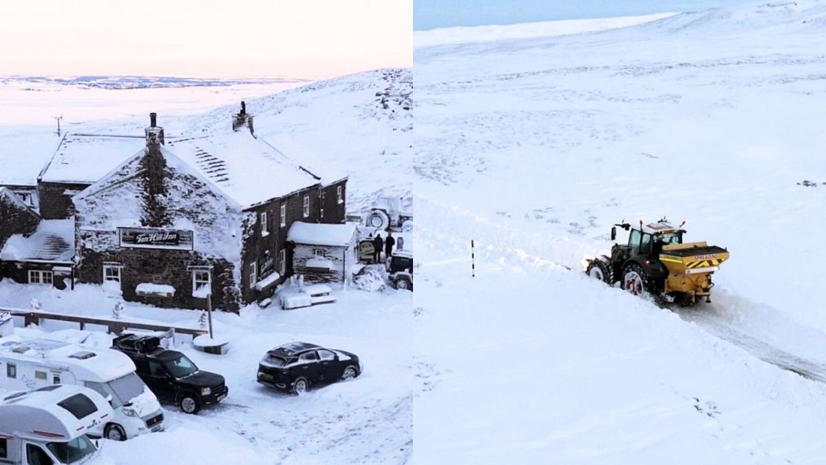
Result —
[[351, 380], [361, 372], [361, 363], [353, 353], [310, 343], [289, 343], [263, 356], [258, 381], [301, 395], [312, 385]]

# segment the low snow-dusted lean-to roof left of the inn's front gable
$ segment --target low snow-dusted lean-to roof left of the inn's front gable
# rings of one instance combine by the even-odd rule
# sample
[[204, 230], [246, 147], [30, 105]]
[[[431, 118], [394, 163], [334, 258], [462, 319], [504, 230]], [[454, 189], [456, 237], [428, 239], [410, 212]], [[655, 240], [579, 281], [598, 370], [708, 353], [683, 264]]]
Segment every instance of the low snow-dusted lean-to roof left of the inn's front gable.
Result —
[[74, 256], [74, 219], [45, 219], [29, 237], [15, 234], [0, 251], [0, 260], [70, 262]]

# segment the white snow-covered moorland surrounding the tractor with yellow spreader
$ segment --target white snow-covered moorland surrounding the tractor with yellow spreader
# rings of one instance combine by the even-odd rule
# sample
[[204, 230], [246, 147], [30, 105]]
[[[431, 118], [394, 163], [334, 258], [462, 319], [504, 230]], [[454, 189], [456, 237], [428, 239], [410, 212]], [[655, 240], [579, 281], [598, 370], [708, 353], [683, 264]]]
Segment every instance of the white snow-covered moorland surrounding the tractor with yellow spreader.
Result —
[[[501, 36], [415, 49], [412, 462], [826, 463], [826, 2]], [[711, 304], [582, 273], [663, 215]]]

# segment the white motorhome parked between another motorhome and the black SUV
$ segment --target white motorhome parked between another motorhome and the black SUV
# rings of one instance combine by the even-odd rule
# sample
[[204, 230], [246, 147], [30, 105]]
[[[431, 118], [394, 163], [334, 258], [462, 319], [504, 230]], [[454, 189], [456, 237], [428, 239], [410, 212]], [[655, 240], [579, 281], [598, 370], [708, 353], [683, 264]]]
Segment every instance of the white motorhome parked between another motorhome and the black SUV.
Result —
[[114, 415], [93, 434], [126, 440], [164, 428], [164, 410], [125, 354], [17, 334], [0, 338], [0, 387], [26, 391], [58, 384], [91, 388], [112, 403]]

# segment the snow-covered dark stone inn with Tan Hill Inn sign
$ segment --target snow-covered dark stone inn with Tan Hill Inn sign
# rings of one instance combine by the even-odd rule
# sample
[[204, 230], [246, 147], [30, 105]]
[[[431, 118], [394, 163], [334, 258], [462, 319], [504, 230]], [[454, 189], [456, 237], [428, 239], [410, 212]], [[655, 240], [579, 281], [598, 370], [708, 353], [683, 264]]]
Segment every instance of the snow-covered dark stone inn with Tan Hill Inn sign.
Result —
[[242, 106], [225, 131], [165, 137], [153, 113], [145, 137], [64, 137], [38, 177], [40, 224], [74, 225], [76, 280], [168, 307], [270, 295], [292, 274], [292, 223], [344, 223], [347, 178], [299, 164], [252, 120]]

